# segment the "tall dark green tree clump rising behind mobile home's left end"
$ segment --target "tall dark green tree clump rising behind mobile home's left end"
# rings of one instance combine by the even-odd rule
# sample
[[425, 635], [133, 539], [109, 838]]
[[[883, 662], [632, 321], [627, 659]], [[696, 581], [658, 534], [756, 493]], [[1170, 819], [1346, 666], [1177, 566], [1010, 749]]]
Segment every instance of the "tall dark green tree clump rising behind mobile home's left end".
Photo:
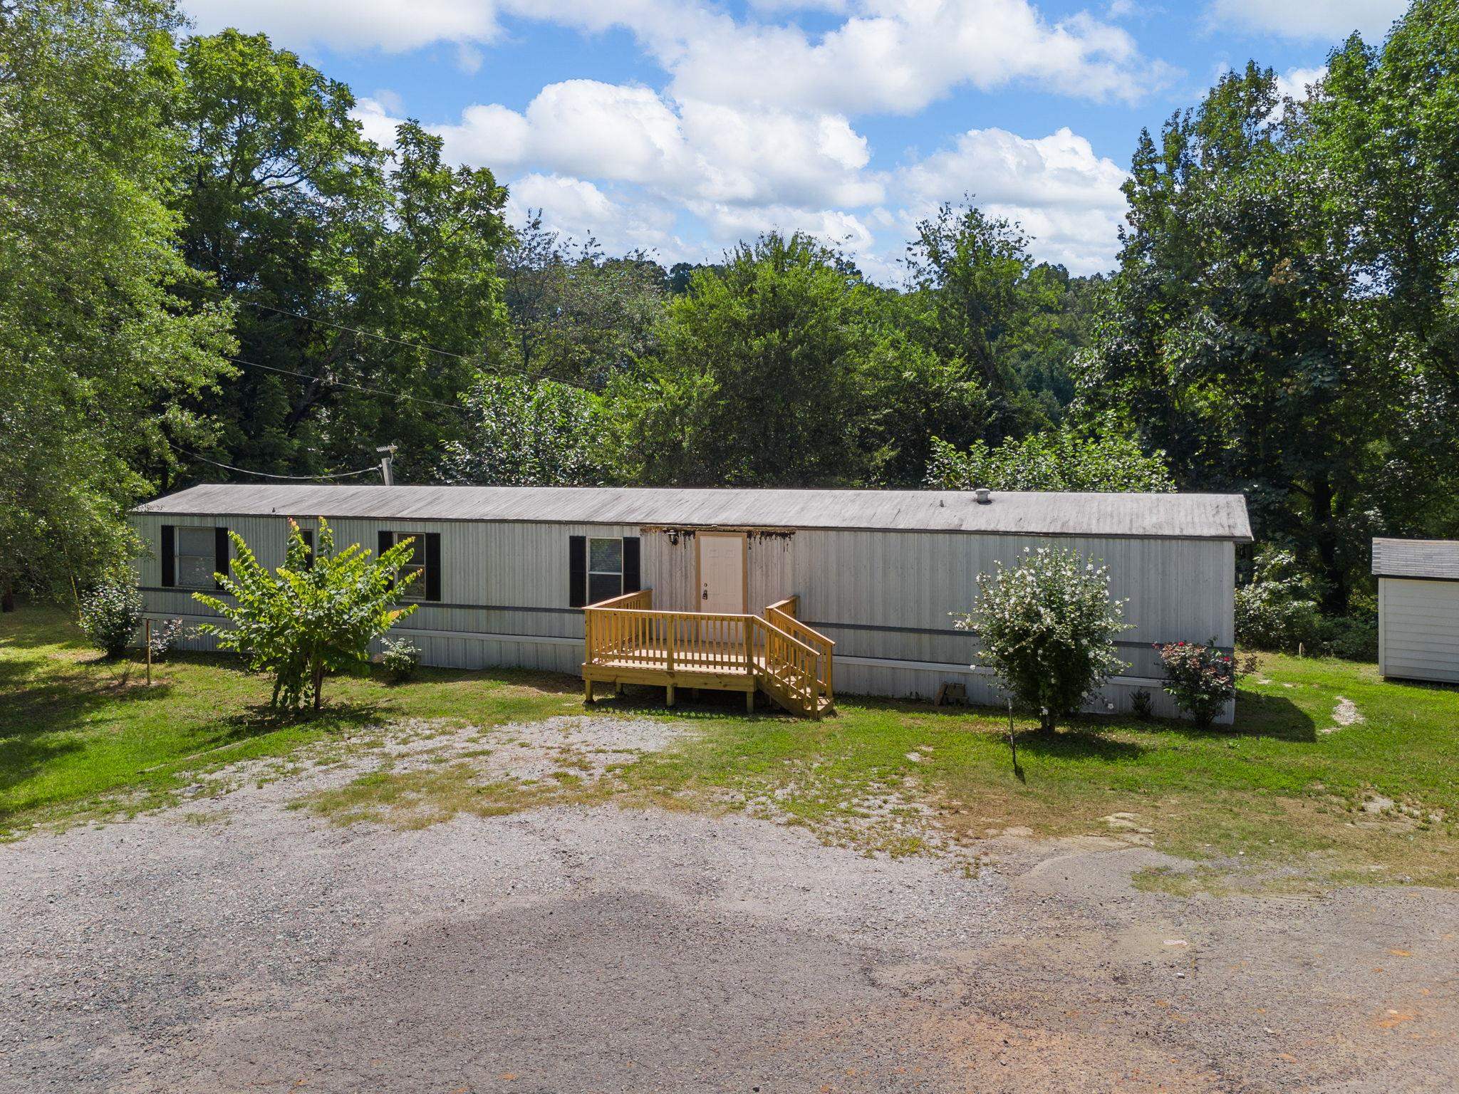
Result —
[[376, 147], [350, 89], [264, 35], [191, 38], [182, 73], [184, 251], [239, 303], [249, 362], [209, 404], [206, 455], [318, 473], [400, 442], [401, 471], [425, 473], [460, 422], [449, 404], [499, 352], [505, 190], [444, 163], [413, 123]]

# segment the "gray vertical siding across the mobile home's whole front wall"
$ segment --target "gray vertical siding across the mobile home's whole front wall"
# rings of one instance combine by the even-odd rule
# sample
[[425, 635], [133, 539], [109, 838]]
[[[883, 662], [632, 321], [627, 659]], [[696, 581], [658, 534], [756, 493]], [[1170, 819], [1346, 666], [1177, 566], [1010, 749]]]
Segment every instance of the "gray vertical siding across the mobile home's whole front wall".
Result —
[[[198, 518], [136, 513], [133, 525], [153, 556], [137, 562], [155, 616], [200, 616], [187, 591], [159, 591], [155, 551], [162, 524], [225, 525], [238, 531], [266, 566], [283, 562], [285, 516]], [[301, 521], [306, 527], [315, 521]], [[519, 665], [576, 671], [582, 661], [582, 613], [568, 607], [570, 535], [642, 535], [642, 583], [654, 605], [696, 607], [694, 535], [673, 543], [661, 529], [633, 525], [481, 521], [331, 522], [337, 546], [374, 550], [379, 529], [439, 532], [442, 602], [422, 604], [400, 630], [425, 651], [427, 664], [454, 668]], [[947, 680], [967, 684], [978, 702], [998, 702], [991, 680], [969, 667], [976, 639], [954, 629], [953, 611], [966, 611], [976, 579], [995, 563], [1013, 563], [1027, 547], [1072, 546], [1110, 570], [1116, 598], [1128, 600], [1126, 680], [1115, 681], [1096, 705], [1128, 706], [1137, 687], [1164, 703], [1150, 678], [1158, 674], [1154, 642], [1234, 640], [1234, 544], [1218, 540], [1056, 538], [918, 531], [751, 532], [748, 583], [751, 611], [783, 597], [801, 597], [801, 618], [836, 640], [837, 690], [929, 697]], [[206, 646], [206, 640], [194, 642]], [[893, 664], [887, 664], [893, 662]]]

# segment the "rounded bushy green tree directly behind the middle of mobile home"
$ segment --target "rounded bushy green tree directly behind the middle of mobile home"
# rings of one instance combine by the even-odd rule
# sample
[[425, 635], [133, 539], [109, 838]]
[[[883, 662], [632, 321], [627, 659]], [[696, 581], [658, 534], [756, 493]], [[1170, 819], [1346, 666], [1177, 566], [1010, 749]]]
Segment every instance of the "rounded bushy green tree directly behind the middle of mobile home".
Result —
[[[699, 270], [657, 354], [607, 389], [629, 481], [858, 486], [921, 474], [926, 422], [980, 385], [907, 335], [889, 295], [807, 236], [766, 235]], [[910, 455], [906, 455], [906, 454]]]

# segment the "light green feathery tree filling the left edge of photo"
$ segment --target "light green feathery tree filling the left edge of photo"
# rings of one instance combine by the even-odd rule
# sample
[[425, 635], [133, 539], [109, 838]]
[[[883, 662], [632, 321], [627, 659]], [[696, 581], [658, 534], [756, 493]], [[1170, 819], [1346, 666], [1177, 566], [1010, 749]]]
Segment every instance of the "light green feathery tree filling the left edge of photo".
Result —
[[163, 198], [178, 16], [155, 0], [0, 3], [0, 604], [89, 585], [136, 550], [185, 400], [228, 375], [229, 309]]

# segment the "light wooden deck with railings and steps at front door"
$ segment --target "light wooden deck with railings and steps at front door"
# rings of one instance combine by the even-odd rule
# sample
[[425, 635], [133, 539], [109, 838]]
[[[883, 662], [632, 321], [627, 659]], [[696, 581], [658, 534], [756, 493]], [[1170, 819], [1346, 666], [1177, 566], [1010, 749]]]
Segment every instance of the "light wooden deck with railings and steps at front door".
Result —
[[797, 715], [833, 709], [833, 649], [824, 635], [795, 618], [797, 598], [760, 616], [655, 611], [642, 589], [584, 608], [584, 696], [595, 684], [662, 687], [674, 705], [680, 687], [744, 691], [747, 709], [763, 691]]

